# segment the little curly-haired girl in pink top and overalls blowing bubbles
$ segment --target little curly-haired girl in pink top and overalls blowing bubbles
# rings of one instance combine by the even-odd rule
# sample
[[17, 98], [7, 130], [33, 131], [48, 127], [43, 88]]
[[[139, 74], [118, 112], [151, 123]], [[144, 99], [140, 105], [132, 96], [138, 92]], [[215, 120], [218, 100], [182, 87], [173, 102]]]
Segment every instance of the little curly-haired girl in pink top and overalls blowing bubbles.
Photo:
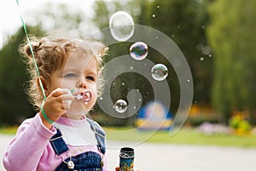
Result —
[[96, 41], [34, 37], [33, 54], [29, 44], [21, 49], [32, 77], [28, 94], [38, 113], [21, 123], [4, 154], [4, 167], [13, 171], [108, 170], [105, 133], [85, 117], [100, 93], [102, 56], [107, 48]]

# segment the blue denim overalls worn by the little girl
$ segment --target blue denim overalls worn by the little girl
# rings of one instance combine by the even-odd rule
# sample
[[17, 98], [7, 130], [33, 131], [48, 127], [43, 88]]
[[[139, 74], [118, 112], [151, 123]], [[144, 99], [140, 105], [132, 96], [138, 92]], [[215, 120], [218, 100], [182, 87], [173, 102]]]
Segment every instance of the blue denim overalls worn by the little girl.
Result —
[[[105, 133], [94, 121], [88, 118], [87, 121], [90, 123], [90, 128], [95, 132], [99, 151], [105, 154]], [[59, 129], [57, 129], [57, 133], [49, 141], [56, 155], [68, 151], [67, 144], [62, 139], [62, 134]], [[86, 151], [75, 157], [68, 157], [55, 168], [55, 171], [102, 171], [102, 167], [102, 156], [94, 151]]]

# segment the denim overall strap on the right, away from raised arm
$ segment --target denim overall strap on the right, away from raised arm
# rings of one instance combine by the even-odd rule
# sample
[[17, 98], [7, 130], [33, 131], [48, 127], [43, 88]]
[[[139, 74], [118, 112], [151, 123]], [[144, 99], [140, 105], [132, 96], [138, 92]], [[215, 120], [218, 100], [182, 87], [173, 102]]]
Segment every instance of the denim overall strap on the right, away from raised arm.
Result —
[[87, 118], [87, 121], [90, 123], [90, 128], [95, 132], [96, 140], [98, 143], [98, 148], [102, 151], [102, 154], [105, 154], [106, 147], [105, 147], [105, 140], [106, 134], [104, 130], [101, 128], [99, 124]]

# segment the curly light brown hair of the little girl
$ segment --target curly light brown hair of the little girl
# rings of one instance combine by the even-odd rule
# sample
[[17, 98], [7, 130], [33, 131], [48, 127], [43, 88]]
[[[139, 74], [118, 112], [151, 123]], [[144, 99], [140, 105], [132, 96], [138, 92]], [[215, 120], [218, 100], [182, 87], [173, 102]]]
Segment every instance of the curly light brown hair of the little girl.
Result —
[[[34, 58], [32, 57], [30, 44], [32, 45]], [[100, 96], [102, 94], [104, 84], [102, 57], [108, 51], [108, 48], [103, 43], [89, 38], [85, 39], [84, 37], [70, 38], [60, 35], [48, 35], [46, 37], [30, 36], [30, 44], [28, 41], [22, 43], [19, 51], [25, 57], [25, 62], [28, 65], [27, 71], [29, 77], [31, 77], [26, 94], [36, 111], [40, 110], [40, 106], [44, 100], [44, 96], [42, 95], [43, 90], [38, 85], [38, 72], [39, 76], [50, 81], [50, 75], [65, 64], [68, 58], [67, 53], [71, 50], [96, 58], [99, 76], [97, 95]]]

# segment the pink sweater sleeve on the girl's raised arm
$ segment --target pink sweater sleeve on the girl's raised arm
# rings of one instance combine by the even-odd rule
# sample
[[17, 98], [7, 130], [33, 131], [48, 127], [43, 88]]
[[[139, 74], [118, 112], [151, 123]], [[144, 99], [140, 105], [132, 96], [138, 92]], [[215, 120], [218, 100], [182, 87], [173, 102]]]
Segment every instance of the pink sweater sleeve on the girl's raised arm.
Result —
[[27, 119], [21, 123], [14, 140], [4, 153], [4, 167], [9, 171], [36, 170], [49, 139], [55, 133], [55, 128], [49, 130], [44, 127], [38, 114]]

